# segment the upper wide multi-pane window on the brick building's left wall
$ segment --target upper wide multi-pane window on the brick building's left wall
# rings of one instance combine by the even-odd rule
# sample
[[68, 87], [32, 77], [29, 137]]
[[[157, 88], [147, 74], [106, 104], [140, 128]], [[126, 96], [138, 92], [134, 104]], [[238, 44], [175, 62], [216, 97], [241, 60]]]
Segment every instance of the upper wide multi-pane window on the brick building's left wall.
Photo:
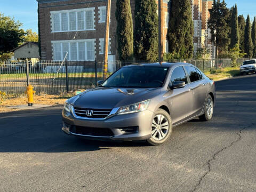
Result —
[[52, 32], [94, 30], [94, 7], [51, 12]]

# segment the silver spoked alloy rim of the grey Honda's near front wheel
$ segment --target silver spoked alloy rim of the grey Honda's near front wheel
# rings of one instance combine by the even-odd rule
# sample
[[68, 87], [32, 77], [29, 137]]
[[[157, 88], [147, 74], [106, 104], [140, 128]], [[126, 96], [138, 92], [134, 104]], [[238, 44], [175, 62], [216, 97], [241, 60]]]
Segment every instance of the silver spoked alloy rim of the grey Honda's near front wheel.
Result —
[[156, 115], [152, 123], [152, 138], [159, 141], [166, 137], [169, 131], [169, 122], [164, 115]]

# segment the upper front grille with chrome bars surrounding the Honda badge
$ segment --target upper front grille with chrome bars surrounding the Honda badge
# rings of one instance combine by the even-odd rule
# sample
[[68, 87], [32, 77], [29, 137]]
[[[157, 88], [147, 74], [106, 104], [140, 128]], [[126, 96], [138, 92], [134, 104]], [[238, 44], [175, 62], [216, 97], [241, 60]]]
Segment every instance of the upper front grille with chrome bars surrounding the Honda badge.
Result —
[[[87, 115], [87, 110], [92, 110], [92, 115]], [[111, 112], [111, 109], [88, 109], [75, 107], [75, 114], [80, 117], [88, 118], [106, 118]]]

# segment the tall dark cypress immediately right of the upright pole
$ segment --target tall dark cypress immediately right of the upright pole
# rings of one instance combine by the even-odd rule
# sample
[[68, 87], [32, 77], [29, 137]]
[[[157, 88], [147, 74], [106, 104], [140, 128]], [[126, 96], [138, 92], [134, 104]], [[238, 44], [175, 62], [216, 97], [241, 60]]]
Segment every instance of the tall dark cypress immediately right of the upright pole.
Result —
[[169, 51], [180, 59], [193, 57], [194, 23], [190, 0], [171, 1], [167, 40]]

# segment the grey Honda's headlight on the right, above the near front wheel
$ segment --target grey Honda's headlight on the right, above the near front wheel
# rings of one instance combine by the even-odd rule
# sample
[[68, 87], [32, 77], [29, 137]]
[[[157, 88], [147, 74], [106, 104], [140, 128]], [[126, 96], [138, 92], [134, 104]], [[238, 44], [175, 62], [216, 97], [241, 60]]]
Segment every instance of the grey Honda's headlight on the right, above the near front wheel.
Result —
[[149, 100], [135, 103], [129, 106], [124, 106], [117, 111], [117, 115], [138, 113], [140, 111], [146, 110], [148, 108], [148, 105], [149, 105]]

